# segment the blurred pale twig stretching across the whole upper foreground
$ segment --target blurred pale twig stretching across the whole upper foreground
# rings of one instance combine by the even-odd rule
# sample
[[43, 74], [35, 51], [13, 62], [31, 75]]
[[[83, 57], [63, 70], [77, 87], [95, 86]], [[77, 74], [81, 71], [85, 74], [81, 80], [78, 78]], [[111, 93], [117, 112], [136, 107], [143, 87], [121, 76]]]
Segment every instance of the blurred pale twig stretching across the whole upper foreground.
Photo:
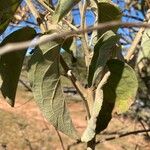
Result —
[[54, 33], [51, 35], [42, 36], [36, 42], [32, 42], [32, 43], [31, 43], [31, 40], [25, 41], [25, 42], [19, 42], [19, 43], [18, 42], [8, 43], [8, 44], [1, 47], [0, 55], [3, 55], [3, 54], [8, 53], [8, 52], [12, 52], [12, 51], [22, 50], [22, 49], [28, 48], [30, 46], [34, 47], [34, 46], [37, 46], [39, 44], [44, 44], [44, 43], [47, 43], [49, 41], [60, 39], [62, 37], [66, 37], [66, 36], [69, 37], [69, 36], [82, 34], [84, 32], [89, 32], [89, 31], [94, 31], [94, 30], [111, 29], [114, 26], [125, 27], [125, 28], [127, 28], [127, 27], [150, 28], [149, 23], [132, 23], [132, 22], [111, 21], [111, 22], [106, 22], [106, 23], [100, 23], [98, 25], [95, 25], [93, 27], [88, 27], [86, 29], [78, 29], [78, 31], [66, 31], [66, 32], [62, 32], [62, 33]]

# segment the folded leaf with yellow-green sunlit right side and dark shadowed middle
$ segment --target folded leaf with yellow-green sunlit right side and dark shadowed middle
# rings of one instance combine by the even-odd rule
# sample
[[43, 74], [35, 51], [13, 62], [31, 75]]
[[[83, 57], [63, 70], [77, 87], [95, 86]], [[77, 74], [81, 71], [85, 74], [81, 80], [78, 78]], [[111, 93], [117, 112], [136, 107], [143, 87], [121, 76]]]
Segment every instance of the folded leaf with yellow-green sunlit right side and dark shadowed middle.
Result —
[[81, 140], [88, 142], [103, 131], [109, 124], [112, 113], [128, 110], [135, 98], [138, 81], [134, 70], [126, 63], [111, 59], [107, 62], [111, 72], [107, 83], [96, 92], [93, 111]]

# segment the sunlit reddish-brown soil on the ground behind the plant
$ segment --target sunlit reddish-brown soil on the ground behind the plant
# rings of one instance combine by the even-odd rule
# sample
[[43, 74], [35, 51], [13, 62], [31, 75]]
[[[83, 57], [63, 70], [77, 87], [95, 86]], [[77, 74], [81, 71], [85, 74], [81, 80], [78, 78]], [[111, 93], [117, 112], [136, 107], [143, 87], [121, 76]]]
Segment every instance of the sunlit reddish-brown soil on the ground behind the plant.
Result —
[[[31, 93], [19, 90], [16, 104], [11, 108], [6, 101], [0, 98], [0, 150], [61, 150], [58, 133], [42, 116], [39, 108], [33, 101]], [[77, 130], [82, 133], [86, 127], [86, 115], [81, 102], [68, 104], [73, 122]], [[13, 118], [13, 121], [11, 120]], [[98, 136], [98, 140], [114, 136], [113, 132], [127, 132], [143, 129], [142, 125], [134, 120], [113, 117], [107, 130]], [[104, 134], [105, 133], [105, 134]], [[111, 134], [110, 134], [111, 133]], [[11, 135], [11, 136], [10, 136]], [[67, 136], [60, 133], [64, 147], [74, 143]], [[85, 149], [85, 144], [72, 146], [72, 150]], [[145, 140], [143, 134], [126, 136], [98, 144], [96, 149], [102, 150], [150, 150], [150, 141]]]

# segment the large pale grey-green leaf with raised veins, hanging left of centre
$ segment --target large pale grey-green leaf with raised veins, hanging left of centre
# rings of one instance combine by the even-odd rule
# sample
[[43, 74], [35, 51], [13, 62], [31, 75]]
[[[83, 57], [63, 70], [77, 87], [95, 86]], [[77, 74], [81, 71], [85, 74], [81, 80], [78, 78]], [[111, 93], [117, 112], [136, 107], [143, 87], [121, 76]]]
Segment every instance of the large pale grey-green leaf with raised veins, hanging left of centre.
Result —
[[60, 44], [54, 41], [40, 45], [29, 64], [29, 78], [35, 101], [47, 120], [64, 134], [78, 139], [61, 89], [59, 50]]

